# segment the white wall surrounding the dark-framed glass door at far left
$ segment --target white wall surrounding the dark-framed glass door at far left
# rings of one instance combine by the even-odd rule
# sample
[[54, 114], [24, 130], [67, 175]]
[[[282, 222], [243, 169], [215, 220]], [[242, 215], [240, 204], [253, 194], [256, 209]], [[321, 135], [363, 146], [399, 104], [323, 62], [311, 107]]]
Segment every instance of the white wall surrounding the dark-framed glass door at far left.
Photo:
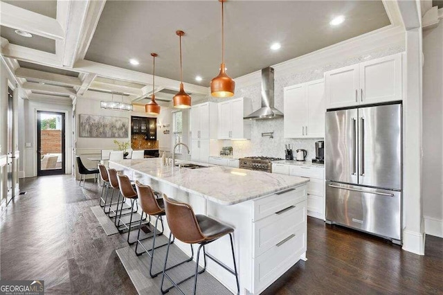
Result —
[[[57, 111], [64, 113], [65, 116], [65, 173], [72, 173], [72, 105], [54, 103], [54, 102], [42, 102], [36, 100], [23, 100], [24, 109], [24, 155], [22, 155], [22, 161], [24, 161], [24, 175], [25, 177], [37, 176], [37, 111]], [[26, 144], [30, 146], [26, 147]]]

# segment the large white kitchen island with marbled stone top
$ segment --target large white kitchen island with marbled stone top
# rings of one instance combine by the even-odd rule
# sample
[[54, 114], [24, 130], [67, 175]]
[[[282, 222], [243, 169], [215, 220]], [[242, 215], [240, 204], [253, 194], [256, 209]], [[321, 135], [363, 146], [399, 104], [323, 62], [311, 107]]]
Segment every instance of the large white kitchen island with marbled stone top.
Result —
[[[162, 166], [161, 159], [109, 161], [129, 178], [192, 206], [235, 229], [240, 294], [260, 294], [306, 253], [306, 184], [309, 179], [266, 172], [208, 166]], [[165, 223], [165, 235], [169, 234]], [[190, 255], [187, 244], [177, 246]], [[206, 250], [229, 267], [229, 238]], [[236, 292], [235, 277], [208, 260], [207, 271]]]

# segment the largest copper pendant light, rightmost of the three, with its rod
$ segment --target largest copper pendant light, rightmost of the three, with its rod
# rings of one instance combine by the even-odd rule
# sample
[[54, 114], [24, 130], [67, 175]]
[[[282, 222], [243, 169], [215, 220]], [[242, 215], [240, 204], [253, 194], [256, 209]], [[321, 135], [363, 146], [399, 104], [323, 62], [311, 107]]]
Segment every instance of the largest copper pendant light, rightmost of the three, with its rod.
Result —
[[224, 1], [221, 2], [221, 65], [220, 73], [210, 81], [210, 94], [217, 98], [227, 98], [234, 96], [235, 81], [226, 74], [226, 66], [224, 64]]

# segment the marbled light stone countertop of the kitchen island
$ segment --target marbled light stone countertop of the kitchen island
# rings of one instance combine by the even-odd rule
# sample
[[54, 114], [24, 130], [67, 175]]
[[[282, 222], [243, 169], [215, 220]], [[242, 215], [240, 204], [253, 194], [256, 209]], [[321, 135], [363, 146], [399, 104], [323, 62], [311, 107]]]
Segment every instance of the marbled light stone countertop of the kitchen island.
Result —
[[[195, 163], [183, 161], [182, 163]], [[306, 184], [309, 179], [279, 175], [268, 172], [208, 166], [208, 168], [188, 169], [162, 166], [161, 159], [127, 159], [109, 161], [112, 166], [133, 170], [137, 173], [165, 182], [188, 193], [199, 195], [222, 205], [233, 205], [279, 192], [294, 186]]]

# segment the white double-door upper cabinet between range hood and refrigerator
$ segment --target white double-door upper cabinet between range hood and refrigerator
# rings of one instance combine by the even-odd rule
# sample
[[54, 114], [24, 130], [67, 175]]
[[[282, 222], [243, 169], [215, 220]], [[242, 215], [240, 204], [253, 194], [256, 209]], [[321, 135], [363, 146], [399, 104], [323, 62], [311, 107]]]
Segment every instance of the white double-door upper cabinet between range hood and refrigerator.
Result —
[[284, 88], [284, 138], [325, 137], [325, 83], [315, 80]]

